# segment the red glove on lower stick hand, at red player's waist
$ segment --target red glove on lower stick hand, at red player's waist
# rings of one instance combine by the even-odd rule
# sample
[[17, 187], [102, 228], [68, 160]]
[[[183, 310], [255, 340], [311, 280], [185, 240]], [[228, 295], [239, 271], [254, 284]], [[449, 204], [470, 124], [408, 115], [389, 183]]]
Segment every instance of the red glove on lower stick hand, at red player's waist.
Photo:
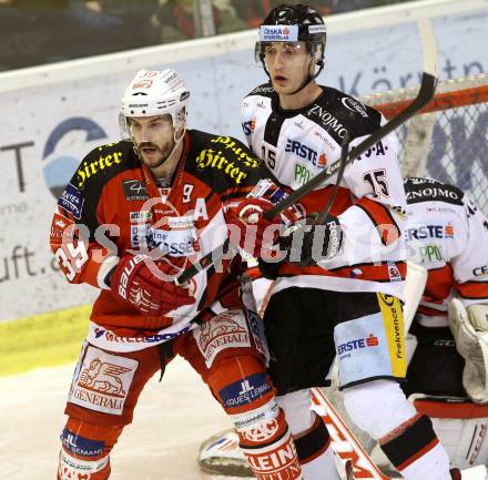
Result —
[[171, 277], [179, 272], [165, 261], [154, 262], [145, 255], [125, 255], [112, 273], [110, 286], [118, 298], [130, 303], [143, 315], [165, 315], [195, 303], [187, 288], [177, 287], [172, 282]]

